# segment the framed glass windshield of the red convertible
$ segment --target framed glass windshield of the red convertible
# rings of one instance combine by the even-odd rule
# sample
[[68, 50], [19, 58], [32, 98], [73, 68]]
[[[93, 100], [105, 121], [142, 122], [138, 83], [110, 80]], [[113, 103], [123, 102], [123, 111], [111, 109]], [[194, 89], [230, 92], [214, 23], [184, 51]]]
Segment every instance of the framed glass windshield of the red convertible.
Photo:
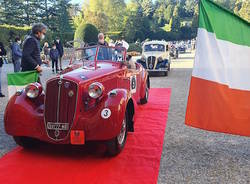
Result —
[[115, 61], [123, 62], [126, 56], [126, 50], [123, 47], [103, 47], [99, 46], [98, 53], [96, 47], [86, 47], [77, 49], [75, 52], [76, 60], [83, 61]]

